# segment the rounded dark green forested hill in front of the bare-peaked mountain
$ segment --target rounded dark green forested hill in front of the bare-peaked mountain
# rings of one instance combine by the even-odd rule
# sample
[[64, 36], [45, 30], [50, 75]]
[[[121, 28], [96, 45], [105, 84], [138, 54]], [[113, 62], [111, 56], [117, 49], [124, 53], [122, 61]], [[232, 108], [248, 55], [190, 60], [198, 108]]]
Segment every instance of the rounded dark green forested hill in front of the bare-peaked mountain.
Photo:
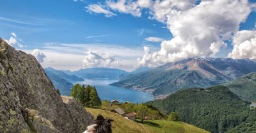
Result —
[[180, 121], [211, 132], [227, 132], [255, 116], [248, 116], [250, 103], [242, 100], [225, 86], [190, 88], [177, 91], [163, 100], [148, 102], [160, 111], [175, 111]]

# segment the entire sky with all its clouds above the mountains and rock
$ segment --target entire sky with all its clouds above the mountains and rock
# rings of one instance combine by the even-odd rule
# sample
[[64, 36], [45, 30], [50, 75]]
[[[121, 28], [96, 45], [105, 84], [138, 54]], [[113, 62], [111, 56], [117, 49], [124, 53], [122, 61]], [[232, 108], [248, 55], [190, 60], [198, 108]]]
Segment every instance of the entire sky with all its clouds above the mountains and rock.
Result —
[[190, 57], [256, 58], [256, 1], [1, 0], [0, 37], [43, 67], [131, 71]]

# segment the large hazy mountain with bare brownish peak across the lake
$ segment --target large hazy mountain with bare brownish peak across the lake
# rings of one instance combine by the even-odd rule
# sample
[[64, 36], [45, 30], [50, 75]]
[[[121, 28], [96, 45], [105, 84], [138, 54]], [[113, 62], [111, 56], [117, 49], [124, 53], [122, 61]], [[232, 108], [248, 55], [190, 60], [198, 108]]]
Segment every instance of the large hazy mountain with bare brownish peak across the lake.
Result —
[[188, 58], [130, 74], [113, 86], [170, 94], [184, 88], [207, 88], [256, 72], [256, 59]]

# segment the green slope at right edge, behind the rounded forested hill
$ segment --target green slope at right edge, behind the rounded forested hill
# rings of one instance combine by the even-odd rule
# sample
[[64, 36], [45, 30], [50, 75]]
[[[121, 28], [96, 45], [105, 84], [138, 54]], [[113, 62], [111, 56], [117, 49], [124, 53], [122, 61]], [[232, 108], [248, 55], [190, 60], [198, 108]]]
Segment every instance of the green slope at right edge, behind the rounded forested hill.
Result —
[[256, 72], [244, 75], [223, 85], [244, 100], [256, 102]]

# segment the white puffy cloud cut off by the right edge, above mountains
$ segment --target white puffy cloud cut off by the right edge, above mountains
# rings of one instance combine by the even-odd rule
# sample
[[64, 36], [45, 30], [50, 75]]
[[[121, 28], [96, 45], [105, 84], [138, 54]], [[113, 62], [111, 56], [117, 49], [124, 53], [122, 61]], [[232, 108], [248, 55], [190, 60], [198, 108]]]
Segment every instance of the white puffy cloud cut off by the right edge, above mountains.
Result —
[[233, 39], [234, 49], [228, 54], [229, 58], [256, 59], [256, 31], [238, 31]]

